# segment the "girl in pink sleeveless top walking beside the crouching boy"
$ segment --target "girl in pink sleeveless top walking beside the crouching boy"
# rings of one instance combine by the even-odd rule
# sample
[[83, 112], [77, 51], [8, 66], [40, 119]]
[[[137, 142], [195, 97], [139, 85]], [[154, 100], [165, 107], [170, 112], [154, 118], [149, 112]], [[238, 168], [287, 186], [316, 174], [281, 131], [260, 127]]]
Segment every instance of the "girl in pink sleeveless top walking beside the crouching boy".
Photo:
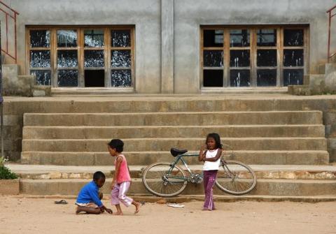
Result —
[[124, 142], [120, 139], [113, 139], [108, 144], [109, 153], [111, 156], [115, 156], [114, 165], [116, 170], [113, 176], [111, 184], [111, 204], [116, 205], [117, 212], [115, 215], [123, 215], [123, 211], [120, 207], [120, 202], [126, 207], [130, 205], [135, 206], [134, 214], [137, 214], [140, 210], [141, 203], [126, 196], [128, 189], [131, 185], [130, 171], [128, 170], [127, 161], [123, 154]]

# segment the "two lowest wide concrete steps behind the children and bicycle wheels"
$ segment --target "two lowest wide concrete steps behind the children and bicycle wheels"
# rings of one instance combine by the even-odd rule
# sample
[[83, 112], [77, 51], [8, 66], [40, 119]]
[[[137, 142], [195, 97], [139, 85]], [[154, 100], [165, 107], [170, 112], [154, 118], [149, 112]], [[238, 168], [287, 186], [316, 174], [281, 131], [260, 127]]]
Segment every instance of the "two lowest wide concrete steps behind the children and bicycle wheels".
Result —
[[[190, 166], [200, 171], [201, 165]], [[336, 166], [251, 166], [258, 177], [257, 187], [249, 193], [256, 196], [328, 196], [336, 192]], [[92, 180], [92, 173], [102, 170], [108, 179], [103, 187], [109, 193], [112, 166], [31, 166], [9, 165], [18, 173], [20, 193], [36, 195], [76, 195], [81, 187]], [[144, 166], [130, 166], [132, 186], [130, 194], [149, 195], [141, 181]], [[183, 195], [200, 195], [202, 184], [188, 184]], [[223, 195], [215, 189], [215, 193]]]

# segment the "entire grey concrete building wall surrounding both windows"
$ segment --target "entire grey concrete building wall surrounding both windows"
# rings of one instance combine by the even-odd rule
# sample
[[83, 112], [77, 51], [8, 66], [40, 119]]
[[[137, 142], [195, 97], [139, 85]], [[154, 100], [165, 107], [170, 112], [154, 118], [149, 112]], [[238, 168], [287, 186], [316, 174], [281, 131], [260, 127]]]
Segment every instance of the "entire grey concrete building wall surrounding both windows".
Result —
[[[165, 1], [165, 4], [162, 2]], [[174, 19], [161, 15], [162, 6], [174, 3]], [[8, 1], [9, 3], [9, 1]], [[136, 31], [135, 87], [139, 93], [160, 93], [166, 66], [161, 58], [170, 45], [162, 41], [173, 40], [174, 92], [200, 91], [200, 25], [211, 24], [309, 24], [309, 69], [318, 73], [318, 65], [325, 63], [328, 42], [328, 15], [325, 10], [335, 5], [333, 0], [13, 0], [11, 6], [18, 17], [18, 64], [25, 73], [25, 26], [43, 24], [133, 24]], [[167, 13], [163, 13], [167, 14]], [[165, 20], [161, 20], [165, 19]], [[3, 18], [0, 18], [3, 20]], [[2, 21], [3, 22], [3, 21]], [[174, 34], [162, 35], [162, 22], [174, 23]], [[336, 20], [334, 32], [336, 35]], [[1, 33], [3, 35], [4, 25]], [[165, 26], [164, 26], [165, 27]], [[169, 27], [167, 27], [169, 28]], [[9, 31], [13, 35], [13, 31]], [[165, 38], [167, 36], [168, 38]], [[162, 40], [162, 38], [164, 40]], [[3, 41], [3, 39], [2, 39]], [[336, 46], [336, 36], [332, 44]], [[13, 49], [13, 42], [10, 44]], [[335, 48], [336, 49], [336, 48]], [[162, 54], [163, 52], [163, 54]], [[169, 56], [171, 54], [168, 54]], [[10, 59], [8, 59], [10, 62]], [[167, 71], [169, 74], [169, 71]]]

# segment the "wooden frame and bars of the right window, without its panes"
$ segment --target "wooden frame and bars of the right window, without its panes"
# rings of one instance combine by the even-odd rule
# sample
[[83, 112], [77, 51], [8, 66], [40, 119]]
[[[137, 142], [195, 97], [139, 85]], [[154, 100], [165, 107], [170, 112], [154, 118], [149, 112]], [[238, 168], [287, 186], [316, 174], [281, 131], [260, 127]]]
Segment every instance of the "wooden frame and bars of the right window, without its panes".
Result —
[[[250, 46], [249, 47], [230, 47], [230, 30], [232, 29], [248, 29], [250, 31]], [[258, 29], [276, 29], [276, 46], [257, 46], [257, 31]], [[303, 46], [284, 46], [283, 45], [283, 30], [284, 29], [303, 29], [304, 43]], [[223, 30], [223, 47], [204, 47], [204, 30]], [[300, 24], [283, 24], [283, 25], [201, 25], [200, 26], [200, 89], [202, 91], [211, 91], [227, 88], [263, 88], [257, 86], [257, 70], [268, 67], [257, 66], [257, 50], [274, 50], [276, 49], [276, 86], [283, 87], [283, 69], [300, 69], [303, 68], [304, 75], [309, 72], [309, 25]], [[286, 49], [303, 49], [304, 50], [304, 66], [283, 66], [283, 50]], [[223, 67], [204, 67], [203, 54], [204, 50], [222, 50], [223, 51]], [[250, 87], [230, 87], [230, 50], [250, 50]], [[223, 87], [204, 87], [204, 70], [222, 70], [223, 69]], [[245, 69], [239, 67], [235, 69]]]

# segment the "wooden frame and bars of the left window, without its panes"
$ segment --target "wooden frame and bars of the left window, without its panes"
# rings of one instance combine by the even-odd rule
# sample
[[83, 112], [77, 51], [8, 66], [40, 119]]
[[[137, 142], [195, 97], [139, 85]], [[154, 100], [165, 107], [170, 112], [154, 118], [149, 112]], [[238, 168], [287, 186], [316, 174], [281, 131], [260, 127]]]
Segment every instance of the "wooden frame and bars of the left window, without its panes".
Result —
[[[87, 29], [102, 29], [104, 31], [104, 46], [103, 47], [85, 47], [84, 45], [84, 31]], [[31, 30], [48, 30], [50, 31], [50, 68], [31, 68], [30, 67], [30, 51], [31, 50], [47, 50], [44, 47], [30, 46], [30, 31]], [[58, 30], [74, 30], [77, 31], [77, 47], [57, 47], [57, 31]], [[112, 30], [130, 30], [131, 45], [130, 47], [113, 47], [111, 46], [111, 31]], [[52, 87], [57, 87], [57, 73], [58, 70], [78, 70], [78, 87], [85, 87], [84, 73], [87, 70], [103, 70], [104, 69], [104, 87], [122, 90], [125, 92], [133, 92], [135, 90], [135, 27], [134, 25], [62, 25], [62, 26], [27, 26], [26, 27], [26, 73], [30, 74], [31, 70], [50, 70], [50, 83]], [[57, 52], [59, 50], [77, 50], [78, 51], [78, 67], [77, 68], [58, 68], [57, 67]], [[85, 68], [84, 67], [84, 52], [85, 50], [104, 50], [104, 68]], [[130, 50], [131, 51], [131, 66], [127, 68], [113, 68], [111, 66], [111, 51], [112, 50]], [[130, 87], [111, 87], [111, 70], [131, 70], [131, 86]], [[68, 88], [68, 87], [62, 87]], [[69, 87], [73, 88], [73, 87]], [[90, 87], [85, 87], [85, 89]]]

